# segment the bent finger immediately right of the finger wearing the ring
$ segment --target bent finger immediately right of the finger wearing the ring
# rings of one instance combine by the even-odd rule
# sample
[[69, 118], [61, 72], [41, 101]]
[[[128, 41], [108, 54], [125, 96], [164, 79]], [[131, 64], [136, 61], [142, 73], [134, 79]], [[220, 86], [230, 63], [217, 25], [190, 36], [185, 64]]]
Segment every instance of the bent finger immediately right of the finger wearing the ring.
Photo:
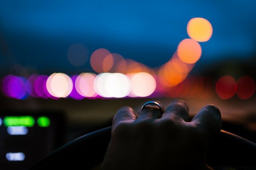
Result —
[[163, 113], [162, 118], [165, 117], [175, 117], [175, 119], [183, 119], [187, 122], [189, 120], [189, 107], [183, 100], [174, 100]]

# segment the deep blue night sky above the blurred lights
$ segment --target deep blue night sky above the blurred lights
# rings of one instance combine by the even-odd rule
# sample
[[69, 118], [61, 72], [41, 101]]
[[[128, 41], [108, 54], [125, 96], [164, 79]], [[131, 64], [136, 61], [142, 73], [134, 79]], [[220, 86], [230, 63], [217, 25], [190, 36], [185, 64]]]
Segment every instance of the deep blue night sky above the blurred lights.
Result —
[[249, 58], [256, 52], [255, 9], [253, 0], [1, 0], [1, 71], [15, 64], [39, 73], [90, 71], [89, 60], [80, 68], [68, 61], [75, 42], [90, 54], [107, 48], [157, 67], [189, 38], [186, 25], [193, 17], [213, 26], [212, 38], [200, 43], [201, 63]]

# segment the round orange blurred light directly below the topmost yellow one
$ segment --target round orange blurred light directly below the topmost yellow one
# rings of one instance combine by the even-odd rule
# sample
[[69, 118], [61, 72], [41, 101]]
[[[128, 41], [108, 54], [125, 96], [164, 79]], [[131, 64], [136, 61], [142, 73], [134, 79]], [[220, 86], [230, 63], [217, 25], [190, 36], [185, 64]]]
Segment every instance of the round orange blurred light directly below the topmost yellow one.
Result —
[[202, 48], [195, 40], [184, 39], [178, 45], [177, 54], [183, 62], [193, 64], [200, 59]]

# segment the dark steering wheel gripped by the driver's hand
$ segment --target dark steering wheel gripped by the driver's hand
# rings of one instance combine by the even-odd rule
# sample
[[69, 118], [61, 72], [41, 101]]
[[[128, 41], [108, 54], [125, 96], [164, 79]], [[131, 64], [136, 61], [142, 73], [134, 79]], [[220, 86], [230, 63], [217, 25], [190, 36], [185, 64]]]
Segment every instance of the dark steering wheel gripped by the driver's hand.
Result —
[[[90, 169], [103, 161], [110, 139], [111, 127], [88, 133], [53, 151], [30, 170]], [[255, 153], [255, 143], [221, 130], [209, 145], [207, 164], [211, 167], [256, 167]]]

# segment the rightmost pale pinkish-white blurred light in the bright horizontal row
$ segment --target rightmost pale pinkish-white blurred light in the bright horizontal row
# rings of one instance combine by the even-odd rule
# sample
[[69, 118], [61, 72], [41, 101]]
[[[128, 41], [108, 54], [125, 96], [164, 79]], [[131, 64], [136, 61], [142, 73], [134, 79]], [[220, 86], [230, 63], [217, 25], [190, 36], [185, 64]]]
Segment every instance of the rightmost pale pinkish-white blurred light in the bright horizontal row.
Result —
[[131, 74], [131, 93], [129, 96], [145, 97], [151, 95], [156, 89], [156, 81], [148, 73], [140, 72]]

